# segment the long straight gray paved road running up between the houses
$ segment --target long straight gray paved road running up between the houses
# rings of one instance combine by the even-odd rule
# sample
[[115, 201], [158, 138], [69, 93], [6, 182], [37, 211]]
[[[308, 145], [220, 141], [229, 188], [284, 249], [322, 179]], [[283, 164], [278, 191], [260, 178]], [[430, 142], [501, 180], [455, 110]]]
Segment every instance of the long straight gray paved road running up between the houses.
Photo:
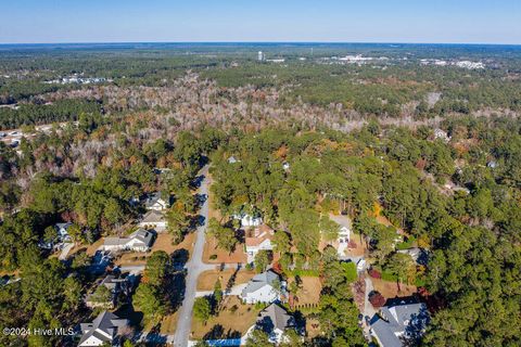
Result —
[[[200, 194], [208, 194], [208, 166], [202, 168], [201, 175], [204, 176], [204, 180], [199, 189]], [[192, 325], [192, 312], [193, 303], [195, 301], [195, 292], [198, 285], [198, 277], [201, 272], [215, 269], [215, 265], [203, 262], [203, 248], [206, 226], [208, 221], [208, 200], [206, 198], [201, 207], [200, 215], [204, 217], [204, 224], [196, 230], [195, 245], [193, 247], [193, 254], [190, 260], [187, 262], [187, 278], [186, 278], [186, 291], [182, 306], [179, 309], [179, 320], [177, 322], [177, 330], [174, 335], [175, 347], [187, 347], [190, 337], [190, 331]]]

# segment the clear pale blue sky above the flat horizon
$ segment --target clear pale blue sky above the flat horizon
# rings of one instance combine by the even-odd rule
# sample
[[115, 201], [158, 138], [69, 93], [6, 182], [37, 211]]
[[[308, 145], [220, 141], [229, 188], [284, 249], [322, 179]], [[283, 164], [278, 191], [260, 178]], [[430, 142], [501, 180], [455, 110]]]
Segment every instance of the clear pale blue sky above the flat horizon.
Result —
[[0, 42], [521, 44], [521, 0], [0, 0]]

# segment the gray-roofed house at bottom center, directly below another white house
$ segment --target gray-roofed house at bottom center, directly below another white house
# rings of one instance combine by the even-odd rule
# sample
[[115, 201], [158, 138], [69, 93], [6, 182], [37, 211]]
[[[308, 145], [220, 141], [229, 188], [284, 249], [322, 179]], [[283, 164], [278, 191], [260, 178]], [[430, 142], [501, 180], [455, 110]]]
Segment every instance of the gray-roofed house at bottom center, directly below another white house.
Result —
[[258, 313], [254, 329], [263, 330], [272, 344], [285, 343], [288, 329], [295, 329], [295, 319], [277, 304], [271, 304]]

